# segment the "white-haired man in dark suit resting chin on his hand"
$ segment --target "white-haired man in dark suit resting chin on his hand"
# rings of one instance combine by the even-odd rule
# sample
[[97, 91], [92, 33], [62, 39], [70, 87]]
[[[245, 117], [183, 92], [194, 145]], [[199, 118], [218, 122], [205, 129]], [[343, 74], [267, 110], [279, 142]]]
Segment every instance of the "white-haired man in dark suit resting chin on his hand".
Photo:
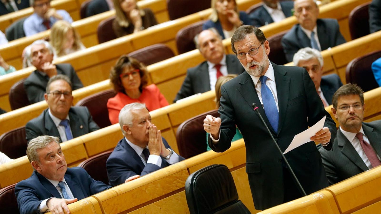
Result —
[[37, 40], [26, 50], [36, 70], [24, 81], [24, 88], [30, 103], [43, 101], [46, 84], [57, 74], [69, 77], [72, 89], [82, 88], [83, 84], [70, 64], [53, 64], [53, 48], [45, 40]]

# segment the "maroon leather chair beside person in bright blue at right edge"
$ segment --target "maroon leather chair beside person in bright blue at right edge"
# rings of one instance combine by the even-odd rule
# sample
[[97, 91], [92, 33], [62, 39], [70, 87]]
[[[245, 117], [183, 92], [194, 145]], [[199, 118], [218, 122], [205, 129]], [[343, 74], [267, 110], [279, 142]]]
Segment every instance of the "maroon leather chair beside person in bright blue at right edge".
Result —
[[381, 57], [381, 51], [375, 51], [365, 56], [357, 57], [348, 63], [345, 72], [347, 83], [356, 83], [364, 91], [378, 88], [371, 65], [376, 59]]

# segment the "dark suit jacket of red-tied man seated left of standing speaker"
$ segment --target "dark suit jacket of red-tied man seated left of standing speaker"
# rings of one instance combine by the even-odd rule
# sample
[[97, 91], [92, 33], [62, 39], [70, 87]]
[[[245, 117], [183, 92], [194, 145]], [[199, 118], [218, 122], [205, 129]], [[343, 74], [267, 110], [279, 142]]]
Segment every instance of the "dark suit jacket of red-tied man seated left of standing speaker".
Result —
[[[245, 71], [233, 54], [226, 55], [226, 66], [229, 74], [241, 74]], [[203, 61], [196, 67], [187, 70], [187, 76], [173, 102], [207, 91], [210, 91], [209, 69], [207, 61]]]

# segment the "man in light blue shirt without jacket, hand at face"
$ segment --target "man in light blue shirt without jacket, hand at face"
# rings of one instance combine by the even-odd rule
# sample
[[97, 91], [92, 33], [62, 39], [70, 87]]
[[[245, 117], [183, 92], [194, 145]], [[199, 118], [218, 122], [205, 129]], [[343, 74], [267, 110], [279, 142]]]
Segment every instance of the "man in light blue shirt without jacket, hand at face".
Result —
[[58, 20], [73, 22], [70, 14], [65, 10], [56, 10], [50, 7], [50, 0], [30, 0], [34, 13], [25, 19], [23, 28], [25, 35], [30, 35], [49, 30]]

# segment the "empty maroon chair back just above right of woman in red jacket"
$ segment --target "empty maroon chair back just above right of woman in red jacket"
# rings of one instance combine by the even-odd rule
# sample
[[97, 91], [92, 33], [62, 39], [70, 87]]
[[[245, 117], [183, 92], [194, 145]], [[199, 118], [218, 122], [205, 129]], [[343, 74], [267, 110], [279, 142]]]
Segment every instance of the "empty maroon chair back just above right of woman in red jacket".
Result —
[[150, 45], [133, 51], [127, 55], [139, 60], [144, 65], [154, 64], [156, 62], [174, 57], [174, 53], [171, 48], [165, 44]]

